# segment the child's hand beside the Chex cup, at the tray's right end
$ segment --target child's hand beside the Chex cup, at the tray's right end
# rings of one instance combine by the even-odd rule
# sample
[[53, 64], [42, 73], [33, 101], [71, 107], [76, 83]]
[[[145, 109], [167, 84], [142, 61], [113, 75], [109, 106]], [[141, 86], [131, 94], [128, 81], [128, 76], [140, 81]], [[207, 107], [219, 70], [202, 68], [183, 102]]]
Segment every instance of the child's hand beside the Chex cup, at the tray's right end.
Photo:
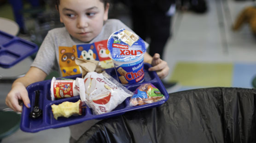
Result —
[[152, 67], [150, 67], [148, 70], [149, 71], [157, 71], [157, 75], [160, 79], [163, 79], [169, 74], [169, 66], [166, 61], [160, 59], [159, 54], [155, 54], [153, 56], [152, 62], [151, 62]]

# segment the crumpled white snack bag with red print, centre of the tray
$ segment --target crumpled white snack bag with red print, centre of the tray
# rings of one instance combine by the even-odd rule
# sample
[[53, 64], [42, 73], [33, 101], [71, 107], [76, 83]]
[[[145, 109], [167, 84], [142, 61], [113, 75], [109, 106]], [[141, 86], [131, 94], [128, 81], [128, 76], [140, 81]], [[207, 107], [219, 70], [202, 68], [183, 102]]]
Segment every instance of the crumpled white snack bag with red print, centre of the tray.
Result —
[[80, 99], [87, 104], [95, 115], [114, 110], [127, 97], [133, 95], [105, 71], [102, 73], [88, 72], [84, 78], [76, 78], [79, 86]]

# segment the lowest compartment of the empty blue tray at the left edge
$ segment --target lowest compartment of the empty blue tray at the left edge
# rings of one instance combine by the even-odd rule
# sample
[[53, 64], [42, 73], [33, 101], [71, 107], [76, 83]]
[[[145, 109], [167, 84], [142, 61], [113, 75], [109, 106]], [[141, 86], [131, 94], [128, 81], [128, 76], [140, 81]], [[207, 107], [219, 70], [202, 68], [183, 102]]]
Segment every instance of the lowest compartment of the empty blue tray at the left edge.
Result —
[[3, 50], [0, 52], [0, 65], [8, 66], [9, 64], [15, 63], [19, 57], [20, 55]]

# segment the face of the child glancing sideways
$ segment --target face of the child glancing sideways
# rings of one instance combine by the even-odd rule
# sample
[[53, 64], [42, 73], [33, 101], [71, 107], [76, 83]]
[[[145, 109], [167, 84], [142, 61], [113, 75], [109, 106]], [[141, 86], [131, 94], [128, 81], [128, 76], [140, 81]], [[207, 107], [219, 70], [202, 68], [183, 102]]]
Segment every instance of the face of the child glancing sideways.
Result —
[[71, 36], [89, 42], [99, 35], [108, 19], [109, 5], [99, 0], [60, 0], [58, 11]]

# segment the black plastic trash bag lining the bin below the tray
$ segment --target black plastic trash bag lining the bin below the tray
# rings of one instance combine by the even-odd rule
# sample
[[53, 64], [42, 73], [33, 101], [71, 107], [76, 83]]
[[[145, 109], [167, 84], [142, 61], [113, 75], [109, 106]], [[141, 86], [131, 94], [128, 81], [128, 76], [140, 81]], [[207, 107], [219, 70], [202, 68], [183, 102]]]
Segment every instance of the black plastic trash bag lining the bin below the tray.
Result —
[[256, 90], [170, 93], [159, 107], [100, 121], [77, 143], [256, 143]]

